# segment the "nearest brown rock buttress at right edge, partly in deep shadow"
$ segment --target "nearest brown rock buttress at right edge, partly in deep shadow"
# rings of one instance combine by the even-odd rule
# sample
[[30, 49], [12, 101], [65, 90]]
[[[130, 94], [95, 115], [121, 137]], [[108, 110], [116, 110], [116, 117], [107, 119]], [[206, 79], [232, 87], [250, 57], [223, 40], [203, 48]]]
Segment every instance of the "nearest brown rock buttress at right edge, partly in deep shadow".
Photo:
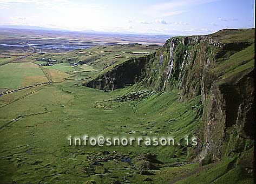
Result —
[[254, 71], [237, 81], [214, 81], [207, 94], [202, 117], [203, 145], [199, 160], [207, 154], [221, 160], [253, 146], [255, 128]]

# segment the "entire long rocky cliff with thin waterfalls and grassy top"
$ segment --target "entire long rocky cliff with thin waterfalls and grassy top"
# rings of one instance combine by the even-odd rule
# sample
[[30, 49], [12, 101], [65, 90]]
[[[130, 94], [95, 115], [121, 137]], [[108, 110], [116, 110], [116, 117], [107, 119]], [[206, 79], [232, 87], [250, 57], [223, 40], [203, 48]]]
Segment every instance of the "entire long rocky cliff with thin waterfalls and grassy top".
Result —
[[163, 92], [179, 88], [180, 100], [201, 96], [204, 111], [195, 131], [199, 138], [195, 160], [207, 156], [221, 160], [253, 146], [254, 38], [251, 34], [252, 38], [242, 39], [242, 33], [222, 30], [170, 38], [155, 53], [129, 59], [84, 85], [114, 90], [141, 83]]

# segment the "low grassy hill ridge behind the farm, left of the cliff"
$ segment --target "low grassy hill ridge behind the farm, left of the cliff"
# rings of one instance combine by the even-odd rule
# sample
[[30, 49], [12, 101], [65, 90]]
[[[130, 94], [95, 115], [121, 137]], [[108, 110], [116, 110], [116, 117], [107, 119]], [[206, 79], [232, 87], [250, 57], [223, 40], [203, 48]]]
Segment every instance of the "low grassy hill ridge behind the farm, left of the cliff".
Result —
[[122, 63], [129, 58], [144, 56], [158, 48], [159, 46], [140, 44], [95, 46], [85, 50], [75, 50], [67, 53], [35, 54], [31, 58], [51, 58], [63, 63], [87, 63], [101, 70], [115, 63]]

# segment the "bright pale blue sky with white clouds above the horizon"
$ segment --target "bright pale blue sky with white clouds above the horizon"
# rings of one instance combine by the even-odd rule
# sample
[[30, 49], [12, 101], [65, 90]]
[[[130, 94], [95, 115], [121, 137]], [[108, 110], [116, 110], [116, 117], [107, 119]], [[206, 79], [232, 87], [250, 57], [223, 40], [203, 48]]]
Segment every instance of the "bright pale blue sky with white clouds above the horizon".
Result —
[[0, 0], [0, 25], [205, 35], [254, 28], [254, 0]]

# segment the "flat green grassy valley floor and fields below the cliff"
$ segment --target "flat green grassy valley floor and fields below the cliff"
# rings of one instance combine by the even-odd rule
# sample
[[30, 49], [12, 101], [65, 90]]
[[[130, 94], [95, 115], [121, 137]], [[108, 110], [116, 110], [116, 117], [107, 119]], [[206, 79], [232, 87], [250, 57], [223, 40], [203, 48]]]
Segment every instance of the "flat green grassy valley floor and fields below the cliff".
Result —
[[[202, 167], [182, 146], [69, 146], [69, 135], [84, 134], [182, 140], [200, 121], [200, 98], [178, 102], [177, 90], [139, 85], [104, 92], [78, 85], [79, 77], [63, 70], [34, 63], [0, 67], [0, 87], [9, 92], [0, 96], [1, 183], [221, 183], [232, 175], [233, 159]], [[145, 95], [129, 98], [139, 92]]]

